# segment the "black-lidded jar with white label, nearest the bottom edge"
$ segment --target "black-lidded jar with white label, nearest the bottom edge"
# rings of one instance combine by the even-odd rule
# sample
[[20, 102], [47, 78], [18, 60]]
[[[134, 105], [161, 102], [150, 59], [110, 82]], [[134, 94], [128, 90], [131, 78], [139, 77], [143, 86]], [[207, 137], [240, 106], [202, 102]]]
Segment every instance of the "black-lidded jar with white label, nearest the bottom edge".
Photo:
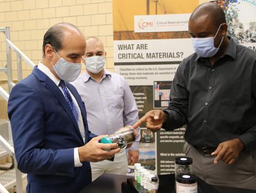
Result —
[[176, 193], [197, 193], [197, 182], [194, 174], [178, 174], [176, 180]]

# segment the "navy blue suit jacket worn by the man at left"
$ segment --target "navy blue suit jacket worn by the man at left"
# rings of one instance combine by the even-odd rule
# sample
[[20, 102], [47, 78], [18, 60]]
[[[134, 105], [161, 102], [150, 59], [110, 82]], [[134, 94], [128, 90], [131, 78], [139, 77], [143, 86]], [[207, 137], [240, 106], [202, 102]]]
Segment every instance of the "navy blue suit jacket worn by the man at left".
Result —
[[95, 135], [77, 90], [67, 87], [81, 110], [85, 141], [61, 90], [37, 67], [11, 91], [8, 115], [18, 168], [28, 173], [27, 192], [78, 192], [91, 182], [89, 162], [74, 167], [74, 148]]

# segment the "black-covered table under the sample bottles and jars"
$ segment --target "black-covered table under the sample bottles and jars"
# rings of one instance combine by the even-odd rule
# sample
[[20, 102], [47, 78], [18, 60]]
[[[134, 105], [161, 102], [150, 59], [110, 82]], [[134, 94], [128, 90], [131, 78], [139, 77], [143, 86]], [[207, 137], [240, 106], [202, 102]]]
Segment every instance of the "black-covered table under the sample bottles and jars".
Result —
[[[174, 174], [158, 175], [158, 193], [174, 193]], [[133, 177], [127, 175], [102, 174], [80, 193], [138, 193], [132, 186]], [[213, 186], [197, 178], [198, 193], [256, 193], [256, 190]]]

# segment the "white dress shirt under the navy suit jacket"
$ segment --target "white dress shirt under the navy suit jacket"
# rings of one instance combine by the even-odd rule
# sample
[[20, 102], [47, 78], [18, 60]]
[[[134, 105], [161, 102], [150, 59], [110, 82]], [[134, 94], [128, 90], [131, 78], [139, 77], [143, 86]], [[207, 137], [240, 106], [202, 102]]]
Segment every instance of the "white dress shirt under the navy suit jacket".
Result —
[[[59, 83], [60, 83], [60, 79], [56, 78], [55, 75], [50, 71], [49, 68], [47, 68], [47, 66], [45, 66], [44, 64], [42, 64], [41, 62], [39, 62], [37, 68], [39, 70], [41, 70], [43, 73], [45, 73], [47, 75], [47, 77], [49, 77], [58, 87], [59, 89], [61, 90], [61, 93], [64, 95], [63, 91], [62, 91], [62, 88], [59, 86]], [[77, 113], [78, 113], [78, 128], [81, 132], [81, 135], [83, 137], [83, 140], [85, 141], [85, 130], [84, 130], [84, 123], [83, 123], [83, 118], [82, 118], [82, 114], [81, 114], [81, 111], [80, 111], [80, 108], [76, 102], [76, 99], [75, 97], [73, 96], [73, 94], [70, 92], [70, 90], [68, 89], [69, 91], [69, 94], [76, 106], [76, 109], [77, 109]], [[78, 147], [74, 148], [74, 166], [75, 167], [80, 167], [82, 166], [82, 163], [80, 162], [79, 160], [79, 155], [78, 155]]]

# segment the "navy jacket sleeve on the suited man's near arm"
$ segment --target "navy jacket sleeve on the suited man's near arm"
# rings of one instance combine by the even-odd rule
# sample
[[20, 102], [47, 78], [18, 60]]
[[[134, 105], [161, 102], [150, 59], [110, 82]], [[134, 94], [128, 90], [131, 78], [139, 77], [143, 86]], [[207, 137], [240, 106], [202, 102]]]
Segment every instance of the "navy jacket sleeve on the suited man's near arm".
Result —
[[73, 177], [74, 148], [44, 149], [44, 106], [37, 91], [26, 83], [16, 85], [10, 94], [8, 115], [11, 120], [15, 157], [23, 173]]

